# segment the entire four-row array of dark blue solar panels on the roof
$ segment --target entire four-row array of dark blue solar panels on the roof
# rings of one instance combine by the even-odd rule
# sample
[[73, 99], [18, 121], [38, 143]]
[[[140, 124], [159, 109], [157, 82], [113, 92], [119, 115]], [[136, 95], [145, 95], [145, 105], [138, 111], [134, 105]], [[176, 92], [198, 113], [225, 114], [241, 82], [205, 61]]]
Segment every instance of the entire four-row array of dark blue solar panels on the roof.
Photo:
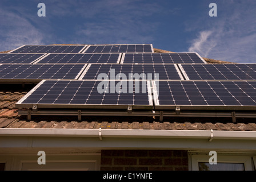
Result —
[[19, 107], [251, 110], [255, 78], [256, 64], [206, 64], [198, 53], [154, 53], [151, 44], [25, 45], [0, 53], [0, 81], [42, 80]]

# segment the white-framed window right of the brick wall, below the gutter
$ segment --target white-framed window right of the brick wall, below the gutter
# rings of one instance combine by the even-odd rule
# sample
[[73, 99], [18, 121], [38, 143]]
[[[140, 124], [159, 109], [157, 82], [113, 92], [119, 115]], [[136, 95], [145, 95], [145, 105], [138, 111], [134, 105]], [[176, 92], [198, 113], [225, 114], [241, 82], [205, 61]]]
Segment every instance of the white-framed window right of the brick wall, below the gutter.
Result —
[[[254, 170], [253, 156], [242, 154], [219, 154], [217, 164], [210, 164], [209, 153], [190, 154], [190, 169], [193, 171], [251, 171]], [[254, 158], [255, 160], [255, 158]]]

